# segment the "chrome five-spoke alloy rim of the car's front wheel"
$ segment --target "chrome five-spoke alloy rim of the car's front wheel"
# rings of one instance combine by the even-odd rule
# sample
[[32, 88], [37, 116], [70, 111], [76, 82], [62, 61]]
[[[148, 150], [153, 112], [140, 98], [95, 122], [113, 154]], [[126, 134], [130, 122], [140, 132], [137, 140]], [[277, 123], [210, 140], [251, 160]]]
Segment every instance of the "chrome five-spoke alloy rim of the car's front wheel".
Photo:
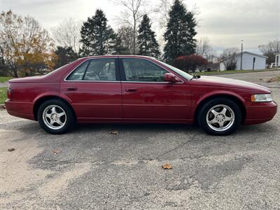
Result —
[[224, 104], [213, 106], [207, 113], [207, 125], [217, 132], [230, 129], [234, 123], [234, 111]]

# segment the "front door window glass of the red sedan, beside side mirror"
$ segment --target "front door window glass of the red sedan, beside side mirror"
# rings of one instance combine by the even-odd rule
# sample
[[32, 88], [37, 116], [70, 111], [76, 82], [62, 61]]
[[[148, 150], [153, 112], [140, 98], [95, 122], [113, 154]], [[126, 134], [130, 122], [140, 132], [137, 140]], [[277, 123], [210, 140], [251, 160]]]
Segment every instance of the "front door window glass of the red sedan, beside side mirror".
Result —
[[163, 82], [163, 75], [168, 73], [146, 59], [123, 59], [123, 65], [127, 81]]

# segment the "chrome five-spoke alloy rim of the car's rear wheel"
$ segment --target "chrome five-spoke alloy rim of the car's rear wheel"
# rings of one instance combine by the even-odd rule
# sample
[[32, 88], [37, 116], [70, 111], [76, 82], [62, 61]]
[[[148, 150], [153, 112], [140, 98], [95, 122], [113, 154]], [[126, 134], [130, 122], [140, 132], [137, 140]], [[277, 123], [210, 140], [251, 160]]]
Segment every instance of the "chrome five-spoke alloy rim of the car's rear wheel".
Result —
[[59, 130], [65, 125], [66, 120], [66, 113], [60, 106], [50, 105], [43, 111], [43, 122], [50, 129]]

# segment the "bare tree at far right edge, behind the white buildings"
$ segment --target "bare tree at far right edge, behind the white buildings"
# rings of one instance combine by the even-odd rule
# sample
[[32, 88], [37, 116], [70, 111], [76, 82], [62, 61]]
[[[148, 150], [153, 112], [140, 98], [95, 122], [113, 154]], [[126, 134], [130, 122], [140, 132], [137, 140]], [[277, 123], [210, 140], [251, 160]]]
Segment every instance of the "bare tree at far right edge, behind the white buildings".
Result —
[[267, 63], [271, 64], [275, 62], [275, 53], [280, 52], [280, 39], [269, 41], [265, 45], [259, 45], [258, 48], [263, 55], [267, 56]]

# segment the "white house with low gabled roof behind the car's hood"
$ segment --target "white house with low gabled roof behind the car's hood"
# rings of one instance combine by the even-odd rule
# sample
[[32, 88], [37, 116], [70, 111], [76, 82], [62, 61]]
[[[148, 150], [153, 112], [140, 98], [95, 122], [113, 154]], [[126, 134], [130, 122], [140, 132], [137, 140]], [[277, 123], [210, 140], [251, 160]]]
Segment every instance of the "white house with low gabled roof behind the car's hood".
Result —
[[[253, 52], [244, 51], [242, 53], [242, 68], [241, 68], [241, 52], [237, 53], [234, 57], [229, 57], [228, 59], [223, 59], [220, 61], [220, 70], [227, 70], [226, 66], [228, 62], [236, 62], [236, 69], [251, 70], [251, 69], [265, 69], [267, 57], [264, 55], [258, 55]], [[235, 69], [230, 69], [235, 70]]]

